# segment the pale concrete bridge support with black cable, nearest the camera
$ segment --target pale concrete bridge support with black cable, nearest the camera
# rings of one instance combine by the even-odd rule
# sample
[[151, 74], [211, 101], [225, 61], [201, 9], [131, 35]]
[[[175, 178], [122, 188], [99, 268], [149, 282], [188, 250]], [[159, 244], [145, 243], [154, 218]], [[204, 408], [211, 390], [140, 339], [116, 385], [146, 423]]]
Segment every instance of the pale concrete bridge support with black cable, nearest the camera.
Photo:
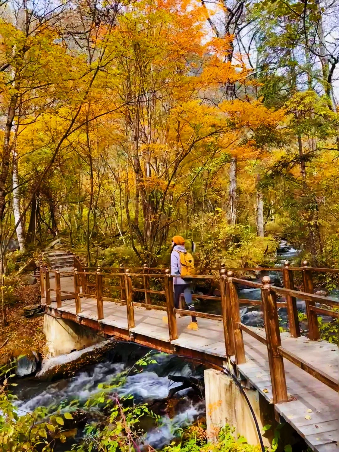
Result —
[[[256, 415], [260, 431], [271, 424], [270, 405], [257, 390], [244, 388]], [[215, 369], [205, 370], [207, 435], [216, 440], [218, 432], [226, 424], [235, 428], [235, 436], [242, 435], [249, 444], [258, 444], [259, 436], [250, 408], [244, 395], [231, 377]], [[269, 446], [267, 438], [264, 445]]]

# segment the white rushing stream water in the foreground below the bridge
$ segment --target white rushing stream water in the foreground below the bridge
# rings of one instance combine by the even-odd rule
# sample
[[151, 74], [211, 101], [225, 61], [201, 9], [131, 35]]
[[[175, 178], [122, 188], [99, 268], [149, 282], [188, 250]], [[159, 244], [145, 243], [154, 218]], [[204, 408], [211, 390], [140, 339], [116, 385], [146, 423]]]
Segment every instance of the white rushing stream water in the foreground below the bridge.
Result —
[[[131, 369], [137, 359], [147, 352], [150, 352], [150, 349], [137, 344], [118, 343], [113, 351], [106, 354], [103, 362], [87, 366], [74, 377], [58, 381], [41, 381], [37, 378], [21, 380], [16, 389], [17, 412], [25, 414], [39, 406], [45, 406], [49, 407], [50, 412], [53, 413], [60, 407], [62, 410], [62, 407], [75, 399], [79, 401], [81, 408], [89, 398], [100, 391], [99, 383], [109, 384], [113, 379], [116, 383], [119, 374], [126, 369]], [[69, 355], [64, 355], [65, 360], [66, 356]], [[199, 397], [193, 394], [189, 388], [174, 395], [173, 399], [177, 403], [173, 404], [172, 399], [169, 409], [167, 400], [169, 391], [171, 388], [180, 386], [181, 383], [171, 381], [168, 376], [202, 377], [203, 368], [202, 366], [194, 367], [193, 364], [176, 356], [164, 353], [153, 352], [152, 359], [156, 364], [149, 364], [142, 372], [132, 370], [120, 387], [108, 389], [108, 393], [114, 392], [120, 396], [133, 395], [133, 403], [148, 403], [151, 410], [160, 415], [158, 426], [155, 427], [150, 419], [146, 423], [145, 443], [154, 448], [161, 448], [169, 444], [170, 440], [179, 434], [181, 428], [192, 424], [205, 412], [202, 395]], [[71, 444], [79, 441], [82, 436], [83, 426], [78, 428], [75, 438], [69, 438], [66, 444], [57, 445], [55, 451], [70, 450]]]

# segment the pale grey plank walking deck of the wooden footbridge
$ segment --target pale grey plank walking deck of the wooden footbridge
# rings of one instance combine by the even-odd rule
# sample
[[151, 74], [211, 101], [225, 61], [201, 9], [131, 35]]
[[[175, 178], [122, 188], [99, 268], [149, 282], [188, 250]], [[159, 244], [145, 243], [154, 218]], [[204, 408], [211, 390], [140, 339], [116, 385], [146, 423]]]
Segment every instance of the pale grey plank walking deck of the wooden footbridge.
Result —
[[[51, 281], [52, 282], [52, 281]], [[71, 282], [70, 282], [71, 283]], [[52, 286], [52, 284], [51, 284]], [[53, 298], [52, 298], [53, 299]], [[112, 301], [104, 301], [104, 319], [97, 317], [96, 299], [81, 298], [81, 313], [75, 313], [75, 300], [62, 301], [57, 309], [52, 302], [48, 310], [54, 315], [69, 318], [102, 330], [106, 334], [116, 334], [128, 338], [134, 334], [137, 343], [148, 344], [164, 351], [191, 350], [211, 357], [225, 358], [225, 342], [222, 322], [198, 319], [199, 330], [187, 329], [189, 317], [177, 318], [178, 339], [170, 341], [168, 326], [162, 317], [165, 311], [146, 310], [134, 307], [135, 328], [128, 330], [126, 306]], [[86, 323], [85, 323], [86, 324]], [[112, 327], [109, 333], [106, 327]], [[265, 331], [254, 329], [265, 336]], [[123, 332], [125, 335], [123, 335]], [[238, 365], [240, 373], [272, 403], [272, 386], [268, 367], [267, 347], [249, 334], [244, 333], [246, 363]], [[145, 342], [145, 338], [147, 342]], [[311, 341], [304, 336], [291, 338], [289, 333], [281, 333], [282, 347], [328, 375], [338, 377], [339, 348], [326, 341]], [[232, 358], [231, 358], [232, 359]], [[338, 451], [338, 392], [284, 359], [288, 396], [292, 401], [275, 405], [278, 413], [292, 425], [318, 452]], [[310, 411], [311, 410], [311, 411]], [[306, 419], [307, 418], [307, 419]], [[309, 419], [311, 418], [311, 419]]]

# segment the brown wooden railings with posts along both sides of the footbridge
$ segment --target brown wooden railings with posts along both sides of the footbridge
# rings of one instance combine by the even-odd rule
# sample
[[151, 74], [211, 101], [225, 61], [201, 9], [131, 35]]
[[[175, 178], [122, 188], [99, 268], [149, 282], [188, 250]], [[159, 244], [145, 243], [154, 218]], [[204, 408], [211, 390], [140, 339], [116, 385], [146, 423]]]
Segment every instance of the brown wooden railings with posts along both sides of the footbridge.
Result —
[[[139, 268], [138, 268], [139, 269]], [[228, 357], [234, 357], [236, 364], [246, 362], [245, 345], [243, 332], [250, 334], [262, 344], [266, 345], [268, 352], [268, 363], [272, 381], [273, 403], [287, 401], [287, 387], [284, 372], [283, 358], [296, 364], [313, 377], [325, 383], [332, 389], [338, 389], [338, 381], [327, 375], [325, 372], [312, 367], [297, 355], [282, 347], [278, 307], [287, 308], [288, 323], [292, 337], [301, 335], [297, 312], [297, 298], [305, 301], [306, 316], [309, 325], [309, 339], [317, 340], [320, 337], [317, 314], [329, 315], [334, 318], [339, 317], [339, 302], [330, 297], [313, 294], [313, 272], [338, 272], [336, 269], [310, 268], [304, 261], [302, 267], [290, 267], [285, 262], [283, 268], [274, 268], [282, 271], [284, 287], [276, 287], [271, 284], [268, 276], [264, 276], [262, 281], [253, 282], [241, 278], [236, 278], [232, 270], [226, 268], [219, 269], [218, 275], [195, 275], [195, 281], [217, 281], [219, 284], [220, 296], [195, 295], [193, 297], [202, 300], [214, 300], [221, 302], [222, 315], [210, 314], [196, 311], [194, 315], [199, 318], [222, 321], [225, 341], [225, 353]], [[103, 301], [114, 301], [126, 306], [128, 328], [135, 327], [134, 307], [146, 310], [155, 309], [167, 313], [168, 329], [170, 340], [178, 339], [176, 314], [191, 315], [191, 311], [186, 311], [180, 306], [174, 307], [173, 276], [169, 269], [155, 269], [142, 267], [142, 272], [135, 269], [108, 268], [102, 271], [90, 271], [91, 268], [82, 268], [80, 260], [75, 260], [74, 271], [74, 292], [61, 290], [61, 278], [70, 276], [70, 273], [55, 274], [56, 306], [62, 306], [63, 293], [75, 299], [75, 310], [81, 312], [81, 300], [83, 298], [96, 299], [98, 320], [104, 319]], [[161, 271], [159, 271], [161, 270]], [[239, 268], [235, 270], [240, 270]], [[241, 269], [248, 270], [248, 269]], [[258, 269], [256, 269], [258, 270]], [[263, 270], [263, 269], [261, 269]], [[267, 270], [266, 268], [264, 269]], [[152, 273], [151, 273], [152, 271]], [[46, 294], [46, 304], [51, 304], [50, 296], [50, 270], [41, 268], [41, 293]], [[302, 273], [303, 291], [295, 290], [293, 272]], [[260, 289], [261, 300], [239, 299], [237, 285]], [[112, 297], [112, 293], [117, 294]], [[142, 298], [140, 296], [142, 295]], [[107, 296], [110, 295], [110, 296]], [[66, 297], [66, 295], [65, 295]], [[285, 297], [285, 302], [278, 302], [278, 297]], [[137, 300], [136, 300], [137, 299]], [[260, 305], [264, 313], [265, 335], [260, 335], [255, 329], [241, 323], [240, 304]], [[320, 306], [319, 306], [320, 305]], [[325, 307], [324, 307], [325, 306]], [[145, 332], [147, 334], [147, 332]]]

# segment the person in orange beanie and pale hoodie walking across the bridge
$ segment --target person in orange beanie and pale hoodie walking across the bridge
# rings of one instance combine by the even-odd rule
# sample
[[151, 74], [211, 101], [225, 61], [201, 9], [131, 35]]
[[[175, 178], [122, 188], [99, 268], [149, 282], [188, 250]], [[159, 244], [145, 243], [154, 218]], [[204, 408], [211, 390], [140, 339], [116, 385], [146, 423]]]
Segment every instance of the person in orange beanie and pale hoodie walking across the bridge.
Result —
[[[174, 277], [173, 278], [174, 307], [176, 309], [179, 309], [180, 295], [184, 293], [185, 303], [188, 306], [188, 309], [190, 311], [195, 311], [195, 307], [192, 301], [192, 280], [189, 279], [189, 277], [185, 279], [181, 278], [181, 263], [180, 263], [181, 253], [187, 254], [187, 250], [185, 248], [185, 239], [184, 237], [181, 237], [181, 235], [174, 235], [172, 239], [172, 252], [171, 252], [171, 275]], [[187, 328], [189, 330], [199, 329], [197, 318], [195, 317], [195, 315], [192, 315], [192, 321]]]

